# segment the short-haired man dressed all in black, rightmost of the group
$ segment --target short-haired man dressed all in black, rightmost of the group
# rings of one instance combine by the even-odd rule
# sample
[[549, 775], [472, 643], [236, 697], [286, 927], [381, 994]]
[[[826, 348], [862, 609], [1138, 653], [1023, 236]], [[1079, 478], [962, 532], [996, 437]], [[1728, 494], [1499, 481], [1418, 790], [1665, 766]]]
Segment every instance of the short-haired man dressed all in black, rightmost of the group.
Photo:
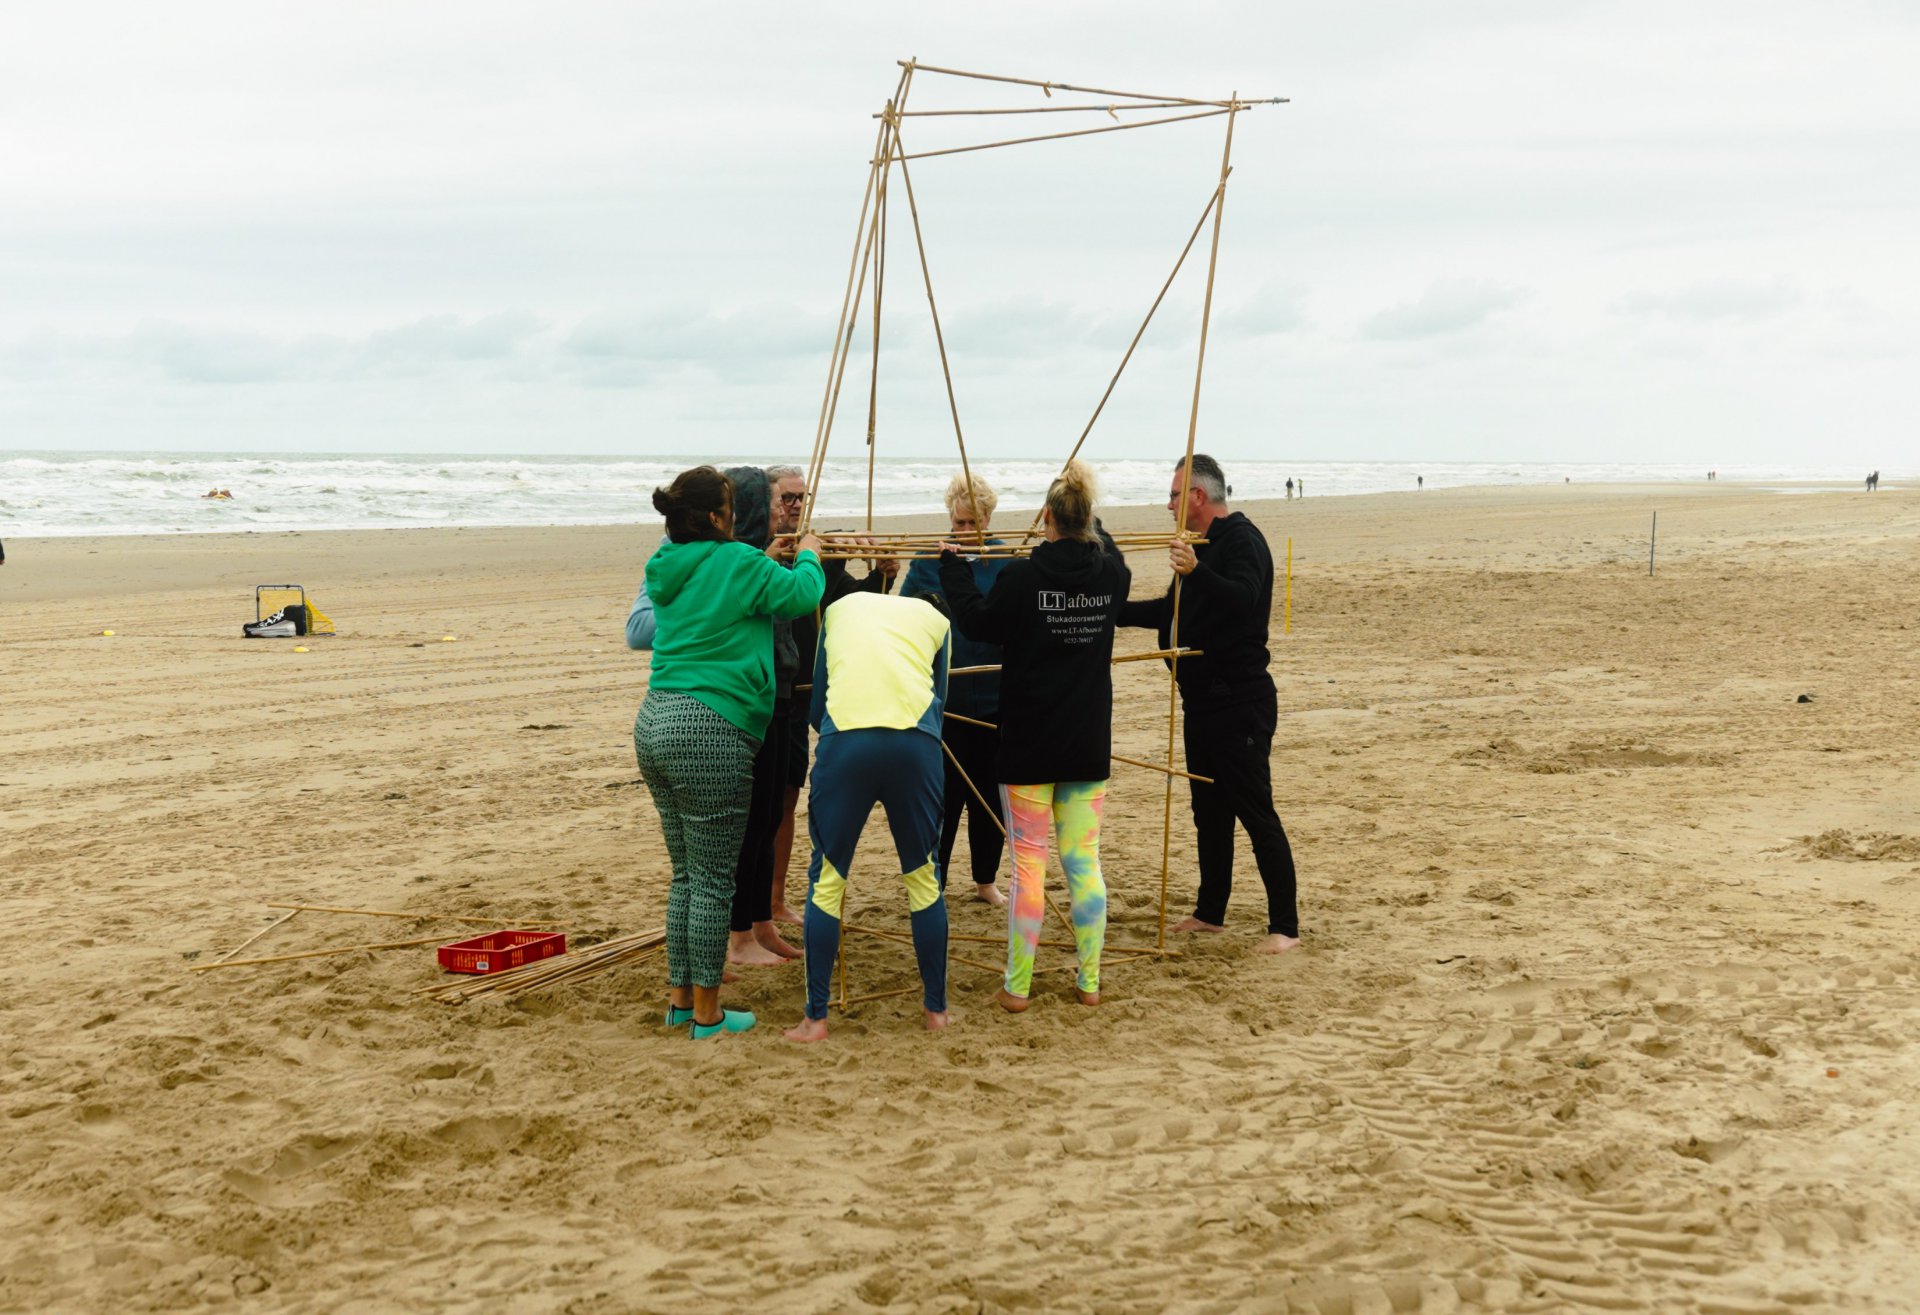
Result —
[[[1279, 699], [1267, 674], [1267, 618], [1273, 610], [1273, 553], [1252, 520], [1227, 509], [1227, 480], [1219, 463], [1194, 453], [1185, 505], [1185, 463], [1173, 468], [1167, 511], [1208, 541], [1175, 541], [1167, 559], [1181, 582], [1183, 649], [1202, 657], [1177, 666], [1185, 718], [1187, 770], [1213, 777], [1190, 781], [1194, 831], [1200, 849], [1200, 895], [1192, 918], [1173, 931], [1219, 931], [1233, 893], [1233, 824], [1246, 827], [1254, 862], [1267, 887], [1267, 939], [1260, 950], [1279, 954], [1300, 944], [1294, 908], [1294, 852], [1273, 810], [1273, 731]], [[1127, 603], [1121, 626], [1160, 632], [1171, 645], [1173, 586], [1158, 599]]]

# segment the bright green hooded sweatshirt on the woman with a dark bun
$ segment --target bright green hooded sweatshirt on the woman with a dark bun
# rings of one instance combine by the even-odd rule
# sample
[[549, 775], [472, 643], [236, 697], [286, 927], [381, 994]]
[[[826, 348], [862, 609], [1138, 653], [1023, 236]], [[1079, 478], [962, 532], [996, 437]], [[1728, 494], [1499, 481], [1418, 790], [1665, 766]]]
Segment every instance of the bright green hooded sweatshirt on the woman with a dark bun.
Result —
[[699, 699], [755, 739], [774, 716], [774, 616], [804, 616], [826, 591], [820, 559], [787, 570], [732, 539], [674, 543], [647, 561], [653, 639], [651, 689]]

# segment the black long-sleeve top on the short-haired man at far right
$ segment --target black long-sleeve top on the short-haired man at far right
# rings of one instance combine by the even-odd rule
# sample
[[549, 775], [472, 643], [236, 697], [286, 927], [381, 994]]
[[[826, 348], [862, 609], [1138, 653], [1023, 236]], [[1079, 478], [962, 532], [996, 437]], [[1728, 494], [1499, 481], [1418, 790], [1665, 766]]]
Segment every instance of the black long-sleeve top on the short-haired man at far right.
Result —
[[[1240, 513], [1229, 513], [1208, 526], [1206, 543], [1194, 545], [1200, 561], [1181, 586], [1181, 647], [1202, 649], [1202, 657], [1181, 658], [1181, 703], [1188, 708], [1217, 708], [1240, 703], [1265, 683], [1267, 622], [1273, 612], [1273, 551], [1267, 536]], [[1121, 626], [1160, 632], [1160, 647], [1169, 649], [1173, 630], [1173, 584], [1158, 599], [1127, 603]]]

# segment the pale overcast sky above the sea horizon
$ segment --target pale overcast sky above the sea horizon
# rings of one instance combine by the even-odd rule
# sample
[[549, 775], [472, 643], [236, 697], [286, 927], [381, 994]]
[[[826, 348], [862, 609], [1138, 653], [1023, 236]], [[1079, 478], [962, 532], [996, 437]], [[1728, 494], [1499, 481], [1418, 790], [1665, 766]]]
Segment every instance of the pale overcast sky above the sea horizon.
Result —
[[[1206, 449], [1910, 465], [1920, 6], [1847, 0], [13, 6], [0, 447], [804, 457], [908, 56], [1290, 98], [1235, 127]], [[912, 165], [970, 451], [1066, 451], [1223, 136]], [[881, 453], [945, 455], [902, 200]], [[1094, 455], [1185, 443], [1204, 257]]]

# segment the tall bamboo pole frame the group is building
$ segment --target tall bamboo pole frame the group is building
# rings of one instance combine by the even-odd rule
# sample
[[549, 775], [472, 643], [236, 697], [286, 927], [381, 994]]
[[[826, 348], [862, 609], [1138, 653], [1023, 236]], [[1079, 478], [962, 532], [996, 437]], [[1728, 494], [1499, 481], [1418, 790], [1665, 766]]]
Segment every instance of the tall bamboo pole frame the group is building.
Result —
[[[1075, 440], [1071, 451], [1068, 453], [1068, 461], [1064, 463], [1064, 465], [1069, 465], [1081, 453], [1081, 447], [1087, 443], [1087, 438], [1092, 434], [1094, 424], [1100, 420], [1100, 415], [1106, 411], [1106, 405], [1112, 399], [1114, 388], [1119, 384], [1119, 378], [1125, 372], [1127, 363], [1133, 359], [1135, 347], [1140, 346], [1140, 338], [1146, 334], [1148, 324], [1152, 324], [1154, 313], [1160, 309], [1162, 301], [1167, 296], [1167, 290], [1171, 290], [1173, 280], [1179, 276], [1181, 269], [1185, 267], [1187, 257], [1188, 257], [1188, 253], [1194, 248], [1194, 242], [1198, 242], [1200, 232], [1206, 228], [1208, 219], [1212, 217], [1213, 234], [1212, 234], [1212, 242], [1208, 246], [1206, 296], [1202, 299], [1202, 309], [1200, 309], [1200, 347], [1198, 347], [1196, 361], [1194, 361], [1192, 405], [1188, 409], [1188, 418], [1187, 418], [1187, 455], [1185, 455], [1185, 461], [1183, 461], [1183, 466], [1181, 466], [1181, 507], [1185, 509], [1187, 503], [1188, 503], [1190, 490], [1192, 490], [1192, 455], [1194, 455], [1194, 442], [1196, 442], [1198, 432], [1200, 432], [1200, 384], [1202, 384], [1202, 378], [1204, 378], [1204, 372], [1206, 372], [1208, 328], [1210, 328], [1212, 315], [1213, 315], [1213, 282], [1215, 282], [1215, 275], [1217, 275], [1217, 269], [1219, 269], [1219, 234], [1221, 234], [1221, 223], [1223, 223], [1225, 211], [1227, 211], [1227, 179], [1233, 175], [1233, 129], [1235, 129], [1235, 121], [1238, 119], [1240, 113], [1244, 113], [1248, 109], [1254, 109], [1256, 106], [1261, 106], [1261, 104], [1284, 104], [1284, 100], [1283, 98], [1269, 98], [1269, 100], [1258, 100], [1258, 102], [1254, 102], [1254, 100], [1240, 100], [1238, 92], [1235, 92], [1233, 96], [1227, 96], [1227, 98], [1192, 98], [1192, 96], [1165, 96], [1165, 94], [1148, 94], [1148, 92], [1121, 92], [1121, 90], [1100, 88], [1100, 86], [1077, 86], [1073, 83], [1039, 81], [1039, 79], [1021, 79], [1021, 77], [1004, 77], [1004, 75], [995, 75], [995, 73], [972, 73], [972, 71], [964, 71], [964, 69], [945, 69], [945, 67], [937, 67], [937, 65], [920, 63], [918, 60], [900, 60], [899, 67], [900, 67], [900, 77], [899, 77], [899, 83], [893, 88], [893, 96], [887, 100], [885, 108], [879, 113], [874, 115], [879, 121], [879, 127], [876, 131], [874, 154], [868, 155], [868, 161], [866, 161], [868, 163], [866, 188], [864, 188], [864, 192], [860, 196], [860, 219], [854, 225], [852, 255], [849, 257], [849, 263], [847, 263], [847, 290], [845, 290], [845, 294], [841, 298], [839, 323], [835, 324], [835, 330], [833, 330], [833, 351], [828, 357], [828, 380], [826, 380], [826, 390], [824, 390], [822, 399], [820, 399], [820, 418], [818, 418], [816, 428], [814, 428], [814, 445], [812, 445], [812, 453], [808, 455], [808, 463], [806, 463], [806, 503], [801, 509], [801, 534], [806, 534], [806, 530], [812, 526], [814, 501], [816, 501], [816, 497], [820, 493], [820, 480], [822, 480], [822, 474], [826, 470], [828, 447], [829, 447], [831, 436], [833, 436], [833, 418], [835, 418], [835, 413], [839, 411], [841, 386], [843, 386], [845, 376], [847, 376], [847, 361], [851, 357], [854, 330], [856, 330], [856, 323], [858, 323], [858, 317], [860, 317], [860, 307], [862, 307], [862, 303], [866, 299], [866, 288], [868, 288], [868, 276], [870, 275], [872, 275], [872, 317], [874, 317], [874, 323], [872, 323], [872, 361], [870, 361], [868, 413], [866, 413], [866, 530], [868, 532], [874, 530], [874, 463], [876, 463], [876, 457], [877, 457], [877, 430], [879, 430], [879, 346], [881, 346], [879, 328], [881, 328], [881, 303], [883, 303], [885, 271], [887, 271], [887, 211], [889, 211], [889, 203], [891, 203], [891, 198], [893, 198], [893, 173], [895, 173], [895, 169], [899, 169], [899, 175], [900, 175], [900, 190], [906, 194], [906, 209], [908, 209], [908, 217], [912, 221], [912, 234], [914, 234], [914, 251], [918, 255], [918, 265], [920, 265], [920, 282], [922, 282], [922, 288], [925, 290], [925, 296], [927, 296], [927, 313], [929, 313], [929, 317], [933, 321], [933, 344], [935, 344], [935, 347], [939, 351], [941, 380], [945, 382], [945, 388], [947, 388], [947, 413], [952, 418], [954, 443], [960, 449], [960, 472], [962, 472], [962, 478], [966, 482], [966, 497], [968, 497], [968, 503], [975, 509], [975, 516], [973, 516], [975, 545], [973, 545], [973, 551], [979, 551], [981, 555], [991, 555], [991, 557], [1012, 557], [1012, 555], [1020, 555], [1020, 553], [1031, 551], [1031, 541], [1039, 534], [1041, 520], [1039, 520], [1039, 516], [1035, 518], [1033, 526], [1027, 528], [1027, 532], [1021, 536], [1021, 539], [1020, 539], [1018, 545], [1006, 545], [1000, 551], [991, 551], [989, 549], [989, 545], [987, 545], [987, 532], [981, 526], [981, 518], [977, 514], [977, 499], [975, 499], [975, 491], [973, 491], [973, 488], [975, 488], [973, 486], [973, 466], [972, 466], [972, 461], [968, 459], [966, 432], [964, 432], [964, 428], [960, 424], [960, 403], [958, 403], [958, 397], [954, 394], [954, 376], [952, 376], [952, 363], [950, 363], [948, 351], [947, 351], [947, 336], [945, 336], [945, 330], [941, 328], [939, 303], [937, 303], [937, 299], [933, 296], [933, 271], [931, 271], [931, 267], [927, 263], [927, 244], [925, 244], [925, 230], [924, 230], [922, 219], [920, 219], [920, 202], [918, 202], [918, 198], [914, 194], [912, 173], [908, 171], [906, 165], [908, 165], [910, 159], [935, 159], [935, 157], [943, 157], [943, 155], [958, 155], [958, 154], [968, 154], [968, 152], [995, 150], [995, 148], [1002, 148], [1002, 146], [1027, 146], [1027, 144], [1035, 144], [1035, 142], [1052, 142], [1052, 140], [1062, 140], [1062, 138], [1094, 136], [1094, 134], [1104, 134], [1104, 132], [1123, 132], [1123, 131], [1131, 131], [1131, 129], [1150, 129], [1150, 127], [1160, 127], [1160, 125], [1167, 125], [1167, 123], [1187, 123], [1187, 121], [1192, 121], [1192, 119], [1225, 117], [1227, 119], [1227, 132], [1225, 132], [1225, 144], [1221, 148], [1219, 180], [1213, 184], [1213, 190], [1210, 192], [1208, 202], [1206, 202], [1206, 205], [1200, 211], [1200, 217], [1194, 221], [1194, 227], [1192, 227], [1192, 232], [1187, 238], [1187, 244], [1181, 248], [1179, 259], [1173, 263], [1173, 271], [1167, 275], [1165, 282], [1160, 286], [1160, 292], [1154, 298], [1152, 305], [1148, 307], [1146, 317], [1140, 321], [1140, 328], [1133, 334], [1133, 340], [1127, 344], [1127, 351], [1121, 355], [1119, 367], [1116, 367], [1114, 376], [1106, 384], [1106, 392], [1100, 394], [1100, 399], [1098, 399], [1098, 403], [1092, 409], [1092, 417], [1087, 420], [1087, 426], [1081, 430], [1081, 434]], [[914, 77], [916, 75], [941, 75], [941, 77], [950, 77], [950, 79], [972, 79], [972, 81], [985, 81], [985, 83], [1000, 83], [1000, 84], [1008, 84], [1008, 86], [1039, 88], [1039, 92], [1043, 96], [1043, 104], [1014, 106], [1014, 108], [991, 108], [991, 109], [908, 109], [906, 102], [908, 102], [908, 94], [912, 92]], [[1094, 96], [1098, 100], [1089, 102], [1089, 104], [1044, 104], [1044, 102], [1052, 102], [1054, 92], [1068, 92], [1068, 94], [1079, 94], [1079, 96]], [[1148, 117], [1148, 119], [1121, 119], [1123, 111], [1140, 111], [1140, 109], [1171, 111], [1171, 113], [1165, 113], [1162, 117]], [[939, 117], [962, 117], [962, 115], [1075, 113], [1075, 111], [1079, 111], [1079, 113], [1100, 113], [1100, 111], [1104, 111], [1108, 115], [1108, 119], [1112, 119], [1112, 123], [1102, 123], [1100, 127], [1094, 127], [1094, 129], [1071, 129], [1071, 131], [1060, 131], [1060, 132], [1041, 132], [1041, 134], [1033, 134], [1033, 136], [1012, 136], [1012, 138], [1002, 138], [1002, 140], [993, 140], [993, 142], [975, 142], [975, 144], [966, 144], [966, 146], [950, 146], [950, 148], [922, 150], [922, 152], [908, 152], [906, 144], [902, 140], [902, 134], [900, 134], [900, 125], [902, 125], [904, 119], [939, 119]], [[1058, 119], [1054, 123], [1058, 123]], [[852, 547], [833, 545], [833, 547], [829, 547], [829, 555], [831, 557], [843, 557], [843, 559], [849, 559], [849, 557], [876, 557], [876, 555], [889, 555], [889, 557], [933, 557], [933, 555], [939, 553], [939, 539], [941, 538], [943, 536], [914, 536], [914, 534], [874, 536], [874, 539], [876, 539], [874, 545], [868, 547], [864, 553], [858, 551], [858, 549], [852, 549]], [[1162, 543], [1167, 541], [1167, 536], [1116, 536], [1116, 538], [1123, 539], [1119, 543], [1119, 547], [1123, 551], [1125, 549], [1158, 547], [1158, 545], [1162, 545]], [[1204, 543], [1204, 539], [1200, 539], [1196, 534], [1188, 532], [1187, 522], [1185, 522], [1185, 511], [1181, 513], [1181, 522], [1175, 528], [1175, 538], [1181, 538], [1181, 539], [1185, 539], [1188, 543], [1196, 543], [1196, 541]], [[1165, 954], [1177, 954], [1177, 950], [1167, 950], [1167, 883], [1169, 883], [1169, 870], [1171, 870], [1173, 781], [1177, 777], [1200, 779], [1200, 781], [1208, 779], [1208, 777], [1194, 777], [1192, 774], [1181, 770], [1179, 764], [1175, 762], [1175, 739], [1177, 739], [1177, 733], [1179, 733], [1179, 660], [1181, 660], [1181, 657], [1194, 657], [1198, 653], [1194, 649], [1181, 649], [1179, 634], [1181, 634], [1181, 576], [1175, 576], [1173, 578], [1173, 618], [1171, 618], [1171, 634], [1169, 634], [1167, 651], [1154, 653], [1154, 655], [1139, 655], [1139, 657], [1165, 657], [1165, 660], [1167, 660], [1167, 754], [1165, 754], [1165, 762], [1164, 764], [1162, 762], [1144, 762], [1144, 760], [1139, 760], [1139, 758], [1121, 758], [1121, 756], [1116, 756], [1116, 762], [1125, 762], [1129, 766], [1137, 766], [1137, 768], [1144, 768], [1144, 770], [1152, 770], [1152, 772], [1162, 772], [1165, 776], [1165, 804], [1164, 804], [1164, 810], [1162, 810], [1162, 827], [1160, 827], [1160, 902], [1158, 902], [1160, 908], [1158, 908], [1158, 931], [1156, 931], [1156, 939], [1154, 939], [1152, 946], [1110, 946], [1117, 956], [1121, 956], [1121, 958], [1116, 958], [1116, 960], [1108, 960], [1110, 964], [1131, 964], [1131, 962], [1137, 962], [1139, 958], [1158, 958], [1158, 956], [1165, 956]], [[1133, 655], [1123, 657], [1123, 658], [1116, 658], [1116, 662], [1129, 660], [1131, 657]], [[958, 674], [958, 672], [954, 672], [954, 674]], [[972, 718], [956, 718], [956, 720], [966, 722], [966, 720], [972, 720]], [[945, 749], [945, 743], [943, 743], [943, 749]], [[966, 779], [966, 772], [960, 768], [960, 762], [952, 756], [950, 749], [947, 749], [947, 758], [952, 762], [952, 766], [960, 774], [960, 777]], [[979, 793], [979, 789], [973, 785], [972, 779], [966, 779], [966, 785], [973, 793], [973, 797], [979, 799], [981, 804], [987, 806], [987, 814], [995, 820], [996, 825], [1000, 825], [1000, 831], [1004, 833], [1006, 825], [1000, 824], [998, 812], [987, 802], [987, 799]], [[1071, 929], [1073, 929], [1071, 927], [1071, 920], [1068, 920], [1066, 912], [1060, 910], [1058, 904], [1054, 904], [1052, 897], [1048, 897], [1046, 902], [1052, 908], [1052, 912], [1062, 921], [1066, 921], [1066, 925], [1068, 925], [1068, 941], [1064, 944], [1071, 946]], [[849, 918], [849, 921], [845, 921], [843, 929], [847, 933], [852, 933], [852, 935], [868, 935], [868, 937], [883, 939], [883, 941], [902, 941], [904, 939], [899, 933], [879, 931], [879, 929], [872, 929], [872, 927], [856, 927], [851, 921], [851, 918]], [[958, 962], [968, 964], [972, 968], [985, 968], [989, 971], [998, 971], [993, 966], [979, 964], [975, 960], [966, 960], [966, 958], [960, 958], [960, 956], [950, 956], [950, 958], [956, 958]], [[1052, 971], [1052, 969], [1037, 969], [1037, 971]], [[914, 991], [914, 987], [902, 987], [899, 991], [881, 991], [881, 992], [870, 992], [870, 994], [860, 994], [860, 996], [849, 996], [847, 994], [847, 935], [841, 937], [839, 983], [837, 983], [837, 991], [835, 991], [837, 998], [833, 1000], [833, 1004], [837, 1004], [841, 1010], [847, 1010], [847, 1008], [851, 1008], [854, 1004], [862, 1004], [866, 1000], [881, 1000], [881, 998], [895, 996], [895, 994], [906, 994], [908, 991]]]

